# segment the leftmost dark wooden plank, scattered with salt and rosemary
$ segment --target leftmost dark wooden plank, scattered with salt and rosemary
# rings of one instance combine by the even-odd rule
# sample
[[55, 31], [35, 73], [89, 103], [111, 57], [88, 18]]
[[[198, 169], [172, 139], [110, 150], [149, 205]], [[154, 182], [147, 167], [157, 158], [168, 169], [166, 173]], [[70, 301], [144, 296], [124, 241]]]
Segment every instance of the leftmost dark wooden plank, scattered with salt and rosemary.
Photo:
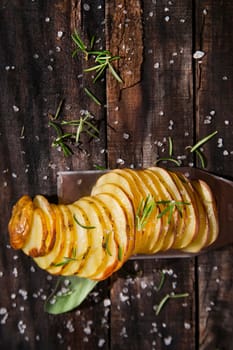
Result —
[[[104, 108], [83, 92], [85, 86], [93, 88], [104, 100], [104, 84], [93, 85], [91, 76], [83, 75], [87, 63], [82, 56], [72, 59], [70, 37], [76, 27], [85, 40], [96, 34], [102, 44], [103, 3], [14, 0], [0, 5], [1, 349], [69, 349], [77, 344], [94, 349], [99, 342], [108, 347], [106, 284], [78, 313], [49, 316], [43, 304], [55, 278], [51, 281], [30, 259], [9, 249], [7, 236], [11, 206], [22, 194], [53, 197], [57, 171], [105, 162]], [[81, 149], [68, 158], [51, 147], [56, 134], [48, 128], [48, 113], [55, 113], [61, 99], [62, 118], [77, 119], [81, 109], [88, 109], [101, 122], [100, 140], [82, 138]]]

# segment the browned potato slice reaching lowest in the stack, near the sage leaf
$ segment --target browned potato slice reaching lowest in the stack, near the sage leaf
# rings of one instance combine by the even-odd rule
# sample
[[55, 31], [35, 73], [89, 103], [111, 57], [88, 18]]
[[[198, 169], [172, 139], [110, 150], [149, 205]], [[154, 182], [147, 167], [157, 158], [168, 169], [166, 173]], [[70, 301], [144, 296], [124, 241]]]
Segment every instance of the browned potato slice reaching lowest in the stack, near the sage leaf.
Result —
[[111, 223], [108, 208], [99, 201], [96, 196], [87, 199], [92, 206], [96, 207], [96, 212], [100, 219], [101, 228], [103, 230], [102, 247], [104, 250], [104, 258], [99, 268], [89, 278], [93, 280], [103, 280], [106, 276], [111, 275], [118, 264], [118, 249], [114, 239], [114, 229]]

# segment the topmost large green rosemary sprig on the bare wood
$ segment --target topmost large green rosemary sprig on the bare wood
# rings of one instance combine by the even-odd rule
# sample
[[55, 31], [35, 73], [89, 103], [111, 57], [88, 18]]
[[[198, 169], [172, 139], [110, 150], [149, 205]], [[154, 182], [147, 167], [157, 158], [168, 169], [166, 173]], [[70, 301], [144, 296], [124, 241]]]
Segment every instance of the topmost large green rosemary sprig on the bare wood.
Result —
[[86, 61], [88, 61], [90, 57], [94, 58], [95, 65], [84, 69], [84, 72], [96, 72], [93, 83], [95, 83], [107, 69], [119, 83], [123, 82], [120, 75], [116, 72], [112, 65], [112, 62], [120, 59], [119, 56], [113, 56], [109, 50], [92, 50], [95, 42], [94, 37], [91, 39], [90, 50], [87, 48], [87, 45], [85, 45], [76, 30], [71, 35], [71, 37], [77, 46], [77, 49], [72, 54], [73, 57], [77, 55], [78, 51], [81, 51], [84, 54]]

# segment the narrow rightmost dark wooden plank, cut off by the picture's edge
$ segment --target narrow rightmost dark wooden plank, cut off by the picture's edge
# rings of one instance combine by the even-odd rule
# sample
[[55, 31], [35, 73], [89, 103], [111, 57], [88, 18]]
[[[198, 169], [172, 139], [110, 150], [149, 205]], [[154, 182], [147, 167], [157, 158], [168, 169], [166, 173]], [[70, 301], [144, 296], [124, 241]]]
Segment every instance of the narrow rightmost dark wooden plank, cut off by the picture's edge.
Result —
[[[205, 53], [196, 64], [197, 136], [218, 131], [217, 137], [204, 146], [208, 170], [231, 178], [232, 13], [232, 1], [197, 2], [196, 49]], [[232, 347], [232, 252], [228, 247], [198, 258], [199, 348], [203, 350]]]

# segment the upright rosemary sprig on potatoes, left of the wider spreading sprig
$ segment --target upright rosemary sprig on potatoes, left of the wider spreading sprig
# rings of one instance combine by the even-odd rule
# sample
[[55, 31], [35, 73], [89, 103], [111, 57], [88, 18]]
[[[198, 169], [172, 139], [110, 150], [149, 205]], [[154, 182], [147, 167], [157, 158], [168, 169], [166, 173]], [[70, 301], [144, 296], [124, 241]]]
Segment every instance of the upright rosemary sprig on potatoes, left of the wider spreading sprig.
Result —
[[156, 202], [150, 195], [142, 199], [136, 212], [136, 228], [141, 231], [155, 208]]

